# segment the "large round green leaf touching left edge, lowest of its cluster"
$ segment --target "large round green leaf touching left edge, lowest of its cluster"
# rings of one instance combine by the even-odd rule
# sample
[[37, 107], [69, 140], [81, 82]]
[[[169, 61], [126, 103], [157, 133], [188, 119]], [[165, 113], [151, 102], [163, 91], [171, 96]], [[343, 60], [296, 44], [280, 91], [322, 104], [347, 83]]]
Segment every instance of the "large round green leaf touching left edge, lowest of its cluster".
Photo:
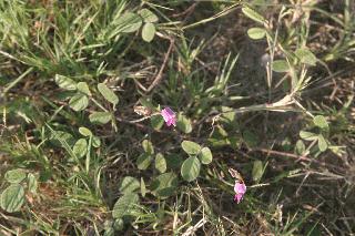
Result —
[[24, 203], [24, 189], [19, 184], [11, 184], [0, 196], [1, 208], [8, 213], [19, 212]]

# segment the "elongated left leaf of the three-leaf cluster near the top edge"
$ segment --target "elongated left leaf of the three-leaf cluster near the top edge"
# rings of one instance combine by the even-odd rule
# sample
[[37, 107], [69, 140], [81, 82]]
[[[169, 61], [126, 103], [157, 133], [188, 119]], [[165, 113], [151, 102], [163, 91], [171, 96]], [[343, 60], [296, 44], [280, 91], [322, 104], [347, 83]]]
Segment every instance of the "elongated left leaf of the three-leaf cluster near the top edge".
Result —
[[142, 25], [141, 17], [129, 12], [123, 16], [121, 16], [115, 22], [114, 22], [115, 29], [110, 34], [110, 38], [115, 35], [116, 33], [132, 33], [138, 31]]

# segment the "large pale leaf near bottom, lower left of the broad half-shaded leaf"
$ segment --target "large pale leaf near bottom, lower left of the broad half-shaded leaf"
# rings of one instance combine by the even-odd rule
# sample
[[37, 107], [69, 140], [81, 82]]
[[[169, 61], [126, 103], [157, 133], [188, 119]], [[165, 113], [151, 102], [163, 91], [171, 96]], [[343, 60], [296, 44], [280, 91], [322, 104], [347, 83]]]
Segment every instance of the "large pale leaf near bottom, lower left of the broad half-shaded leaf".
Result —
[[113, 218], [122, 218], [123, 216], [130, 216], [135, 213], [139, 196], [135, 193], [124, 194], [114, 204], [112, 209]]

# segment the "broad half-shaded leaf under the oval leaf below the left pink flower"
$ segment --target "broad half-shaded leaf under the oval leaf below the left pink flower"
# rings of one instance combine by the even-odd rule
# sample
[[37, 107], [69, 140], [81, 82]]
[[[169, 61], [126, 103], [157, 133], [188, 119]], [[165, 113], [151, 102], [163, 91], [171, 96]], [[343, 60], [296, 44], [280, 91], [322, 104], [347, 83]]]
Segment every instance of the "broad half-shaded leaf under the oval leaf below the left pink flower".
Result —
[[151, 185], [152, 194], [159, 197], [173, 195], [176, 187], [178, 176], [173, 172], [159, 175]]

